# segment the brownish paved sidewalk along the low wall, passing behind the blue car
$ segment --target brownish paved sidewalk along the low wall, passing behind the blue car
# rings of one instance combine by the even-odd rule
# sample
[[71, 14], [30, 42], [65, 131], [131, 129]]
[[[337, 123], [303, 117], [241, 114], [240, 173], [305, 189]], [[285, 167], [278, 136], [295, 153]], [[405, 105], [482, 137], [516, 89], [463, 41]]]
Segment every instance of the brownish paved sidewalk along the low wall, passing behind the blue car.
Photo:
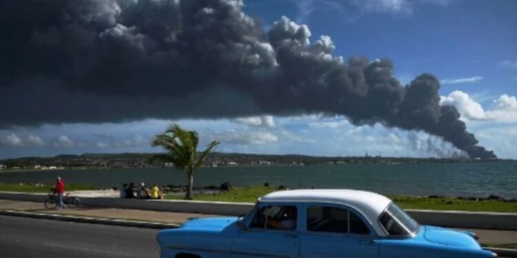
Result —
[[[161, 211], [144, 211], [128, 208], [97, 208], [79, 207], [65, 208], [63, 210], [48, 210], [39, 202], [21, 202], [12, 200], [0, 200], [0, 210], [32, 211], [37, 213], [76, 215], [86, 217], [103, 217], [108, 219], [128, 219], [145, 222], [161, 222], [169, 224], [181, 224], [190, 217], [221, 217], [220, 215], [199, 213], [172, 213]], [[517, 246], [517, 231], [508, 230], [480, 230], [463, 229], [475, 232], [479, 241], [484, 245], [511, 245]]]

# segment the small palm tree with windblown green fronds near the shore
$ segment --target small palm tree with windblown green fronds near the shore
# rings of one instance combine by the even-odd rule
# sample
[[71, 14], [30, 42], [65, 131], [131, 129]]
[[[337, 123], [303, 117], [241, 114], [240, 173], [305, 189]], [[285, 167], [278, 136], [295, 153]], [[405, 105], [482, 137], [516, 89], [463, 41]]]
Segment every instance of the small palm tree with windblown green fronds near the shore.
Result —
[[152, 140], [152, 147], [163, 147], [168, 153], [154, 155], [150, 162], [156, 160], [170, 162], [174, 164], [176, 169], [187, 172], [188, 187], [185, 200], [192, 200], [192, 187], [194, 185], [194, 173], [196, 169], [203, 166], [203, 161], [208, 153], [210, 153], [219, 142], [210, 142], [207, 149], [199, 155], [197, 153], [198, 144], [199, 137], [196, 131], [186, 131], [176, 124], [171, 125], [165, 133], [154, 136], [154, 140]]

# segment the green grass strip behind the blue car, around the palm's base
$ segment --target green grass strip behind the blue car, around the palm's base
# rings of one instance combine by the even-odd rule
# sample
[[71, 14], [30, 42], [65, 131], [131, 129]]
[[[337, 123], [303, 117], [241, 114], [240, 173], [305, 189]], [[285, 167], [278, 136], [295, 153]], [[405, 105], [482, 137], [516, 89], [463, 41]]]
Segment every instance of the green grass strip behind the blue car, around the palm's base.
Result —
[[[218, 201], [218, 202], [256, 202], [267, 193], [276, 191], [274, 187], [251, 186], [236, 187], [231, 191], [216, 194], [196, 194], [194, 200]], [[168, 195], [165, 199], [182, 200], [183, 196]], [[501, 202], [496, 200], [460, 200], [458, 198], [440, 197], [411, 197], [390, 196], [398, 206], [407, 209], [423, 209], [438, 211], [493, 211], [504, 213], [517, 213], [517, 202]]]

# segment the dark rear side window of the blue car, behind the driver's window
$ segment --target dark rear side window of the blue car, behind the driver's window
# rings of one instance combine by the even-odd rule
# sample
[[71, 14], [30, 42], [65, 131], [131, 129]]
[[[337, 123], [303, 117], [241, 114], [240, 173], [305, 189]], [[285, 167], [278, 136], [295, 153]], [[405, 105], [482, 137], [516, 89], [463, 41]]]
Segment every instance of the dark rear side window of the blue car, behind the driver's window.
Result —
[[307, 230], [314, 232], [368, 235], [363, 219], [345, 208], [310, 206], [307, 208]]

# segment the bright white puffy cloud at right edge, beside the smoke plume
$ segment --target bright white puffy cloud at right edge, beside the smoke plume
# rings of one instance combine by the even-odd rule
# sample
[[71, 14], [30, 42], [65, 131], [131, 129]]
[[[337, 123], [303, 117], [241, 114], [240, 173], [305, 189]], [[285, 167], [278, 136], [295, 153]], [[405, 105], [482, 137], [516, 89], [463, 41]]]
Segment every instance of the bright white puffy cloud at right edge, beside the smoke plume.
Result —
[[491, 107], [485, 110], [469, 94], [454, 91], [449, 96], [442, 96], [440, 105], [452, 105], [458, 109], [463, 120], [491, 120], [495, 122], [517, 122], [517, 98], [503, 94], [493, 100]]

